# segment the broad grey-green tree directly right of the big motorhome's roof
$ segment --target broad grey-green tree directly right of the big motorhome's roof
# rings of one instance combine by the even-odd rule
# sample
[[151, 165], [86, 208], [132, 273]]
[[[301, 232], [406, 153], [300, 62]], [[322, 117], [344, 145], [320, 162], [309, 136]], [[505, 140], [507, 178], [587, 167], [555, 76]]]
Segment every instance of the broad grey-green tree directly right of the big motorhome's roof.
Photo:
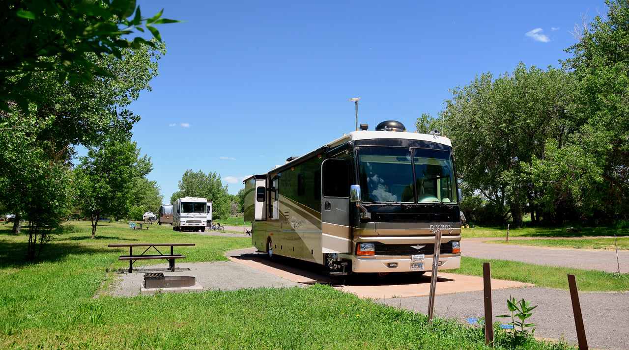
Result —
[[574, 83], [563, 70], [520, 63], [513, 72], [482, 74], [451, 90], [442, 118], [452, 138], [457, 172], [465, 187], [479, 190], [521, 226], [523, 210], [534, 200], [528, 170], [541, 158], [547, 139], [559, 144], [574, 132]]

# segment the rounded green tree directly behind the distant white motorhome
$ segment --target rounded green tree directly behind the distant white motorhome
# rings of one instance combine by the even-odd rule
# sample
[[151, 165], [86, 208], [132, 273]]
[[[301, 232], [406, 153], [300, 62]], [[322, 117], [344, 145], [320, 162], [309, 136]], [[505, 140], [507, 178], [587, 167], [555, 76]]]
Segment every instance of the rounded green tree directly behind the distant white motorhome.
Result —
[[202, 170], [198, 172], [193, 172], [192, 169], [186, 170], [179, 180], [179, 191], [170, 197], [171, 203], [184, 196], [211, 200], [213, 202], [212, 216], [217, 219], [230, 216], [231, 197], [227, 192], [227, 186], [221, 182], [221, 175], [216, 172], [206, 174]]

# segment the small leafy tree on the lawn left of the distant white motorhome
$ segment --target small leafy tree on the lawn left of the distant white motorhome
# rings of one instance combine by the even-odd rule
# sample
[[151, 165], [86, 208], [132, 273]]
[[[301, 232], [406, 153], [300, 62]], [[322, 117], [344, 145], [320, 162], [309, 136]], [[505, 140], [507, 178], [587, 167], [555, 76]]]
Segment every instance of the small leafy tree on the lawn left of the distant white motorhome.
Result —
[[135, 178], [152, 170], [150, 158], [140, 158], [140, 150], [131, 141], [108, 140], [89, 148], [76, 169], [82, 212], [92, 222], [92, 238], [101, 216], [127, 214], [133, 199]]

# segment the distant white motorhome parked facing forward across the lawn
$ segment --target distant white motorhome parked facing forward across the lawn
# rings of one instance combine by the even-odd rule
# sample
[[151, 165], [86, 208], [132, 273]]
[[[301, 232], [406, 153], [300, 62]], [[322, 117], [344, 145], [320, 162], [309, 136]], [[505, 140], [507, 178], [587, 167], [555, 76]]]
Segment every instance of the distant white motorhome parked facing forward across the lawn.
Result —
[[175, 231], [205, 232], [208, 218], [206, 207], [208, 200], [199, 197], [184, 197], [172, 204], [172, 229]]

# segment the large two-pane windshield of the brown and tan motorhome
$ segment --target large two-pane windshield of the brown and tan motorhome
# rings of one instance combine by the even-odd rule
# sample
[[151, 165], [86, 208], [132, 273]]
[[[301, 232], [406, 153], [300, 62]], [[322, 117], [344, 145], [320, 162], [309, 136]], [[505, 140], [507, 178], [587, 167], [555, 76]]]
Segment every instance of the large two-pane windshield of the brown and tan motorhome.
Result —
[[357, 154], [363, 202], [457, 202], [450, 152], [363, 146]]

